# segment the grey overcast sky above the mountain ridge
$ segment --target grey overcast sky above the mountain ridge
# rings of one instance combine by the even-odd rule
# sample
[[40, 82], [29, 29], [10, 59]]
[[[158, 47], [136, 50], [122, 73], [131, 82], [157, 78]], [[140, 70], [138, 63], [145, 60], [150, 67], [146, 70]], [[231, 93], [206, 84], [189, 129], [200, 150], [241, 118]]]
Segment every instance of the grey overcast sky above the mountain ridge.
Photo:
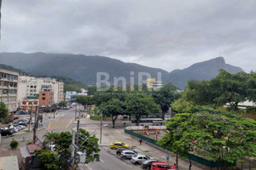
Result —
[[172, 71], [256, 71], [255, 0], [3, 0], [1, 52], [102, 55]]

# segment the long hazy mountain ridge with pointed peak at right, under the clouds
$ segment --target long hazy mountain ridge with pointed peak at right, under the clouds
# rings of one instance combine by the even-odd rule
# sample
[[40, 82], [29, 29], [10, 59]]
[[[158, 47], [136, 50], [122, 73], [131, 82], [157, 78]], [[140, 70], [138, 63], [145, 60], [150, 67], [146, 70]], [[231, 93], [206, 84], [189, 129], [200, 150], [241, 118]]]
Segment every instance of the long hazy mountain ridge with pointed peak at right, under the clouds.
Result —
[[0, 53], [0, 63], [37, 76], [69, 77], [91, 85], [96, 84], [97, 72], [107, 72], [112, 83], [113, 77], [125, 77], [129, 83], [131, 71], [135, 72], [135, 83], [137, 83], [138, 72], [148, 72], [151, 77], [157, 77], [157, 73], [161, 72], [164, 83], [172, 82], [178, 88], [184, 88], [190, 79], [212, 79], [218, 75], [220, 69], [231, 73], [242, 71], [239, 67], [225, 64], [222, 57], [196, 63], [189, 68], [174, 70], [170, 73], [158, 68], [125, 63], [119, 59], [82, 54]]

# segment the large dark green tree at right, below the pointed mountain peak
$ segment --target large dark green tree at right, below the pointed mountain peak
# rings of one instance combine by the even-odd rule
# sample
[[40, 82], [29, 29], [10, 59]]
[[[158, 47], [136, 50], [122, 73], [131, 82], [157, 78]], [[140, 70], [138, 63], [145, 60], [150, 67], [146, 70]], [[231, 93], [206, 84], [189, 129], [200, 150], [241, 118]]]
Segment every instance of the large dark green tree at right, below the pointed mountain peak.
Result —
[[[211, 81], [189, 81], [183, 93], [184, 99], [194, 105], [216, 107], [229, 104], [230, 109], [237, 110], [238, 103], [247, 100], [249, 96], [248, 78], [249, 75], [245, 72], [230, 74], [228, 71], [220, 70], [218, 76]], [[253, 78], [250, 85], [251, 92], [255, 92]], [[253, 99], [253, 95], [250, 99]]]

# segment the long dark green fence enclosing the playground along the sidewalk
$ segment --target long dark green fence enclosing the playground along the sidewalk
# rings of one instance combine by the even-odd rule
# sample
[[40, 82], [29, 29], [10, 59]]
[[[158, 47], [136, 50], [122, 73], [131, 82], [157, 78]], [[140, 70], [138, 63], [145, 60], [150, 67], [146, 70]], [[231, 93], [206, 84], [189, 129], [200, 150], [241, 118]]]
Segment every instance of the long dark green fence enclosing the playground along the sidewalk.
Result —
[[[154, 145], [159, 146], [160, 148], [164, 149], [162, 146], [160, 146], [159, 144], [157, 144], [157, 141], [154, 140], [154, 139], [149, 139], [149, 138], [147, 138], [146, 136], [143, 136], [143, 135], [141, 135], [141, 134], [132, 132], [131, 130], [127, 130], [127, 129], [125, 129], [125, 133], [130, 134], [131, 136], [134, 136], [134, 137], [136, 137], [136, 138], [138, 138], [138, 139], [143, 139], [144, 141], [146, 141], [146, 142], [148, 142], [148, 143], [150, 143], [150, 144], [154, 144]], [[165, 150], [165, 149], [164, 149], [164, 150]], [[169, 151], [172, 151], [172, 150], [169, 150]], [[221, 165], [221, 164], [224, 164], [224, 163], [225, 163], [226, 165], [231, 166], [231, 167], [233, 167], [233, 166], [236, 165], [236, 163], [234, 163], [234, 164], [229, 164], [229, 163], [227, 163], [227, 162], [209, 161], [209, 160], [207, 160], [207, 159], [205, 159], [205, 158], [202, 158], [202, 157], [200, 157], [200, 156], [195, 156], [195, 155], [193, 155], [193, 154], [189, 154], [189, 159], [190, 159], [191, 161], [195, 161], [195, 162], [197, 162], [197, 163], [199, 163], [199, 164], [201, 164], [201, 165], [204, 165], [204, 166], [206, 166], [206, 167], [220, 167], [220, 165]]]

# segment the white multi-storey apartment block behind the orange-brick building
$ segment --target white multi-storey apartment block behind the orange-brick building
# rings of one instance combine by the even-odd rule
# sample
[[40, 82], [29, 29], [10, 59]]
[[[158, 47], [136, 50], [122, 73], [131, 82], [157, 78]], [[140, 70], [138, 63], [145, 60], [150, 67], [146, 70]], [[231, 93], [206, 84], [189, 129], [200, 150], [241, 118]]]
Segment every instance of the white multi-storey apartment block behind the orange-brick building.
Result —
[[52, 91], [54, 103], [64, 100], [64, 83], [50, 77], [27, 77], [19, 78], [18, 103], [28, 96], [37, 96], [40, 91]]

